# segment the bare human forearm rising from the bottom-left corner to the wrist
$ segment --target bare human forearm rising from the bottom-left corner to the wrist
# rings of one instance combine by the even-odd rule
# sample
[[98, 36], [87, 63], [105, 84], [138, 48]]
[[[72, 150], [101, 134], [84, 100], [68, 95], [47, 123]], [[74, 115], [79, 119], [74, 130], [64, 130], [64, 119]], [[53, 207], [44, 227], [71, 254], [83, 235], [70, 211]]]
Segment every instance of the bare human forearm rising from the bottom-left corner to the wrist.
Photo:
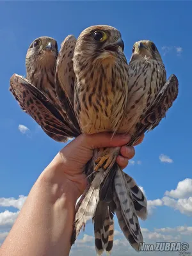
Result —
[[69, 180], [56, 176], [54, 170], [40, 175], [1, 246], [1, 256], [68, 255], [77, 194]]

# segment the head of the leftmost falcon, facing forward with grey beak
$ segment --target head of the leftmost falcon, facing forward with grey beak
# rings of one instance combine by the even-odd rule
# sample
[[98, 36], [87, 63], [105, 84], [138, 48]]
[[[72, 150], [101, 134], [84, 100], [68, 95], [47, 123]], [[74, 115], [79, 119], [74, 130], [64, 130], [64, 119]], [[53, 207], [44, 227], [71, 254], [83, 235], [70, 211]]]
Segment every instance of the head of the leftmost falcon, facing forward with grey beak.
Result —
[[36, 38], [29, 46], [26, 54], [26, 66], [49, 65], [56, 61], [58, 56], [58, 44], [54, 38], [41, 36]]

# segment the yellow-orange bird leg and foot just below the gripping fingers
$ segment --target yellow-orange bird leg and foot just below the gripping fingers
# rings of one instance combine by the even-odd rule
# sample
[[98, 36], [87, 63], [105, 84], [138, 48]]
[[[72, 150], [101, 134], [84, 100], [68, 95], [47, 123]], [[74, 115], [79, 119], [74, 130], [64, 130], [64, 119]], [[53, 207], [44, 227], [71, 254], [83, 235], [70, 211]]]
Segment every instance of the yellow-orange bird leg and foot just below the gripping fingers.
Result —
[[95, 172], [99, 168], [104, 168], [104, 170], [113, 166], [116, 161], [116, 157], [120, 153], [120, 147], [116, 148], [100, 148], [97, 152], [97, 157], [95, 159], [96, 166], [94, 167]]

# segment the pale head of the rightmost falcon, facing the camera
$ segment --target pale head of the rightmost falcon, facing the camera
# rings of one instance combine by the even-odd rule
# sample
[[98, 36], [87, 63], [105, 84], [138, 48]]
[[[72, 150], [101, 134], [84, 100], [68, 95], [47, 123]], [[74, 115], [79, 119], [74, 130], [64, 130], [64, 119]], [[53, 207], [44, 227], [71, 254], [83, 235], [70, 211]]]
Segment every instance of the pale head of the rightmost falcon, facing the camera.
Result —
[[[154, 42], [149, 40], [141, 40], [136, 43], [134, 43], [132, 47], [132, 56], [131, 60], [156, 60], [158, 62], [163, 63], [161, 59], [161, 55], [159, 54], [159, 51], [157, 50], [156, 45]], [[130, 61], [131, 61], [130, 60]]]

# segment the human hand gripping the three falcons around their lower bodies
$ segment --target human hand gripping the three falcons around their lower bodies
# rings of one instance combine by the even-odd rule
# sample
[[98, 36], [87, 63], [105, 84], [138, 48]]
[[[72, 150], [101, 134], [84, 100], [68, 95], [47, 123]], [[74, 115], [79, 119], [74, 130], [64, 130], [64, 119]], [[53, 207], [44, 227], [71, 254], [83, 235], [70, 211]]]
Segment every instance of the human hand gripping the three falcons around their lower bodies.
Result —
[[[144, 135], [134, 144], [138, 145], [143, 141]], [[116, 134], [111, 139], [111, 134], [103, 132], [100, 134], [81, 134], [72, 140], [54, 157], [44, 172], [49, 173], [52, 179], [69, 180], [71, 193], [78, 198], [86, 188], [86, 175], [83, 173], [85, 164], [92, 158], [95, 148], [121, 147], [120, 156], [116, 163], [125, 168], [129, 159], [134, 157], [134, 147], [126, 147], [131, 140], [129, 134]], [[70, 192], [69, 192], [70, 193]]]

